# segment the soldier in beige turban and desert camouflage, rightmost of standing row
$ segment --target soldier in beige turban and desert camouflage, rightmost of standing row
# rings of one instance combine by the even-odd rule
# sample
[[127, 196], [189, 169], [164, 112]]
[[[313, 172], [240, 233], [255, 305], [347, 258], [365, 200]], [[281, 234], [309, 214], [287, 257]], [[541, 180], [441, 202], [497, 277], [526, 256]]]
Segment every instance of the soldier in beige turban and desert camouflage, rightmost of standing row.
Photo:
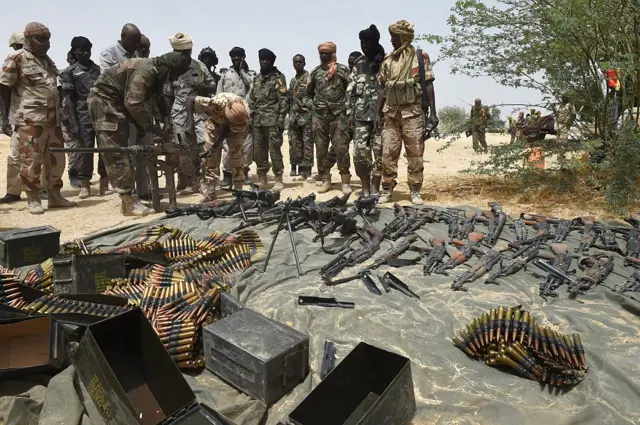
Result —
[[[380, 111], [384, 113], [380, 202], [391, 200], [398, 176], [398, 159], [404, 142], [411, 202], [421, 205], [423, 203], [420, 190], [424, 178], [422, 155], [424, 153], [425, 122], [421, 105], [420, 63], [416, 50], [411, 45], [415, 33], [413, 25], [405, 20], [390, 25], [389, 33], [394, 51], [385, 57], [378, 74], [378, 82], [381, 86], [381, 91], [378, 94], [378, 116], [380, 116]], [[430, 111], [427, 126], [436, 128], [438, 117], [436, 116], [433, 89], [435, 77], [429, 55], [422, 52], [422, 56], [426, 81], [425, 89]], [[413, 84], [407, 84], [407, 81]]]

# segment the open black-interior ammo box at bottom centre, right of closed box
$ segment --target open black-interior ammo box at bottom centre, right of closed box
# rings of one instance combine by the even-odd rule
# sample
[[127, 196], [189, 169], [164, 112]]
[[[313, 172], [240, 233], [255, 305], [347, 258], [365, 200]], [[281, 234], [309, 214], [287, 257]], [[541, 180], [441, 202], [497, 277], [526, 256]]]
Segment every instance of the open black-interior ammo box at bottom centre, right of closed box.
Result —
[[295, 425], [409, 425], [415, 413], [409, 359], [361, 342], [289, 419]]

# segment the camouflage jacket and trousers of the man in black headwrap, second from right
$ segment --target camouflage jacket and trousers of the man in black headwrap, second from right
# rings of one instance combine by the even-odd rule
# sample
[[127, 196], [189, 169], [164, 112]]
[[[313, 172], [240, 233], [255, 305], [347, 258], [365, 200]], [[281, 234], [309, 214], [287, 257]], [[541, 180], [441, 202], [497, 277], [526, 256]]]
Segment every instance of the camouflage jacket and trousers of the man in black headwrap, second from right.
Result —
[[[347, 110], [355, 119], [353, 165], [358, 177], [382, 175], [381, 137], [373, 128], [378, 108], [379, 84], [366, 56], [356, 59], [349, 78]], [[373, 153], [373, 162], [371, 154]]]

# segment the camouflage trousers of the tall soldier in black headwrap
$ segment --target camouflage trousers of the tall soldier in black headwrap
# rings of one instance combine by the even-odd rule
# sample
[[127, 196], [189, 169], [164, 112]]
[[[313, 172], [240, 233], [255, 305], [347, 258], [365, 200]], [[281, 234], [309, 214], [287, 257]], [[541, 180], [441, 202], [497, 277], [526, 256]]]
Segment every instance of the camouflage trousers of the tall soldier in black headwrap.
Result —
[[[373, 154], [373, 161], [371, 154]], [[382, 140], [373, 128], [373, 122], [356, 121], [353, 137], [353, 166], [358, 177], [382, 175]]]

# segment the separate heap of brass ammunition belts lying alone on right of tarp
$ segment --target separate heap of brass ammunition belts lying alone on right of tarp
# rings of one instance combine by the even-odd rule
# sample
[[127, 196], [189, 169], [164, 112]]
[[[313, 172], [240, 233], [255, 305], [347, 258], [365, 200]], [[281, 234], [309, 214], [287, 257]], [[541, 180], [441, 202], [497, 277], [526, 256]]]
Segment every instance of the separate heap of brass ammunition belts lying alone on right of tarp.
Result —
[[538, 325], [521, 306], [498, 307], [459, 330], [453, 344], [474, 359], [542, 385], [571, 387], [588, 371], [580, 335]]

